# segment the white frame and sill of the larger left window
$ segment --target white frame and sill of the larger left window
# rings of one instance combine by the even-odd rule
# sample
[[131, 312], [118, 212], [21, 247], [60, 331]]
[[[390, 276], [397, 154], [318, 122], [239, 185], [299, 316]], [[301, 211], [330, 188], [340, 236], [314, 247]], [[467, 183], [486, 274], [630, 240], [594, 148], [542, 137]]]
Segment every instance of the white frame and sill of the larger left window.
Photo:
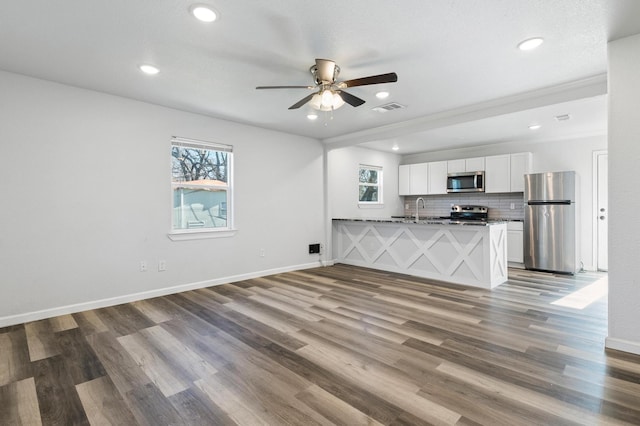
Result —
[[[173, 158], [171, 156], [171, 151], [174, 147], [183, 147], [183, 148], [193, 148], [193, 149], [206, 149], [209, 151], [220, 151], [227, 153], [227, 182], [226, 185], [220, 184], [198, 184], [199, 188], [225, 188], [226, 190], [226, 221], [227, 225], [224, 227], [215, 227], [215, 228], [191, 228], [191, 229], [176, 229], [174, 228], [174, 215], [175, 215], [175, 207], [174, 207], [174, 192], [176, 188], [185, 187], [184, 183], [174, 182], [173, 181]], [[203, 239], [203, 238], [221, 238], [221, 237], [230, 237], [235, 235], [236, 229], [233, 226], [233, 216], [234, 216], [234, 203], [233, 203], [233, 146], [222, 144], [218, 142], [210, 142], [203, 141], [197, 139], [189, 139], [178, 136], [173, 136], [170, 140], [170, 154], [169, 154], [169, 182], [171, 185], [171, 217], [169, 224], [169, 233], [167, 236], [173, 241], [183, 241], [183, 240], [192, 240], [192, 239]]]

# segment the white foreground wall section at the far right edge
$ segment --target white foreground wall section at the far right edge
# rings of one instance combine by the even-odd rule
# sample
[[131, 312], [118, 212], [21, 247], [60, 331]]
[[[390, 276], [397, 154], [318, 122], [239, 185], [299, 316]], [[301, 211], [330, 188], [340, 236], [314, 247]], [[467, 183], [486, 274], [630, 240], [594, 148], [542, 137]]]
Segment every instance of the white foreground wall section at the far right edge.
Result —
[[640, 354], [640, 34], [609, 43], [609, 337]]

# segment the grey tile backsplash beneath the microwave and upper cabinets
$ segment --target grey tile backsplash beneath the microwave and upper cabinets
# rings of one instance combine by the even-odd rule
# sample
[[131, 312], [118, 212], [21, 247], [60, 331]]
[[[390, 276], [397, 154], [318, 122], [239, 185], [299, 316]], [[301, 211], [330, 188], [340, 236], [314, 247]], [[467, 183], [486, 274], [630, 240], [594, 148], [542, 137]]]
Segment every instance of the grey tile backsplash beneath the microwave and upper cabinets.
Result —
[[[418, 196], [405, 196], [405, 216], [416, 214], [416, 199]], [[524, 194], [511, 192], [504, 194], [460, 193], [442, 195], [423, 195], [425, 208], [420, 203], [420, 216], [449, 216], [451, 205], [474, 205], [489, 208], [490, 219], [524, 219]], [[513, 204], [513, 209], [511, 205]]]

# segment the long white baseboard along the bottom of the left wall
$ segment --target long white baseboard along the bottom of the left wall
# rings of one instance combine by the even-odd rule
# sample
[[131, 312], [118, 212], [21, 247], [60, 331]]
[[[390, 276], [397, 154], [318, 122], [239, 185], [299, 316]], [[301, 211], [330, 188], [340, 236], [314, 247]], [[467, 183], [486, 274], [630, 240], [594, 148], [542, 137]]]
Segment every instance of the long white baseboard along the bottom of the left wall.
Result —
[[[330, 263], [330, 264], [329, 264]], [[266, 269], [263, 271], [249, 272], [246, 274], [231, 275], [228, 277], [216, 278], [212, 280], [199, 281], [188, 284], [180, 284], [172, 287], [159, 288], [139, 293], [125, 294], [122, 296], [110, 297], [106, 299], [93, 300], [89, 302], [77, 303], [73, 305], [59, 306], [55, 308], [43, 309], [40, 311], [26, 312], [17, 315], [0, 317], [0, 327], [22, 324], [31, 321], [38, 321], [46, 318], [57, 317], [59, 315], [74, 314], [91, 309], [106, 308], [108, 306], [120, 305], [122, 303], [135, 302], [137, 300], [151, 299], [153, 297], [166, 296], [168, 294], [181, 293], [183, 291], [197, 290], [199, 288], [212, 287], [221, 284], [248, 280], [252, 278], [265, 277], [268, 275], [281, 274], [284, 272], [300, 271], [304, 269], [317, 268], [321, 266], [331, 266], [333, 262], [312, 262], [300, 265], [291, 265], [281, 268]]]

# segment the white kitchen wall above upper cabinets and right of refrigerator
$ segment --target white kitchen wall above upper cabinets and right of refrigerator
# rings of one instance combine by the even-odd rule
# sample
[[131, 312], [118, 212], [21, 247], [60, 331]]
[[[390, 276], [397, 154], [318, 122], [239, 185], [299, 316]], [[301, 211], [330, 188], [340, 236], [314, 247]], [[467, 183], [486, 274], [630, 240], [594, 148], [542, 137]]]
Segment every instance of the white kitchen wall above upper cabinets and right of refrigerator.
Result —
[[474, 148], [436, 151], [407, 155], [402, 164], [427, 161], [451, 160], [455, 158], [480, 157], [513, 152], [533, 153], [533, 173], [575, 170], [578, 176], [576, 194], [578, 217], [578, 260], [587, 270], [595, 270], [593, 260], [593, 220], [597, 216], [593, 207], [593, 152], [607, 149], [607, 136], [591, 136], [577, 139], [547, 142], [507, 142]]

